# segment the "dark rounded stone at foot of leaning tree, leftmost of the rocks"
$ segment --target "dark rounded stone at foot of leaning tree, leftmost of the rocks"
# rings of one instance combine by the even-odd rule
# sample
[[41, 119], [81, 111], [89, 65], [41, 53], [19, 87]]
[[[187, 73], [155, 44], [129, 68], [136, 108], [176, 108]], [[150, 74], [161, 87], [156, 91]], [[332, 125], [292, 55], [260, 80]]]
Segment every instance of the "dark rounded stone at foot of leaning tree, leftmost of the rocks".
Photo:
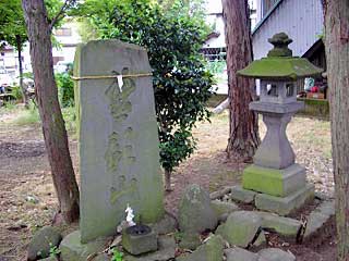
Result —
[[50, 254], [50, 248], [57, 247], [62, 240], [62, 235], [52, 226], [44, 226], [35, 233], [33, 239], [28, 244], [28, 260], [38, 258], [47, 258]]

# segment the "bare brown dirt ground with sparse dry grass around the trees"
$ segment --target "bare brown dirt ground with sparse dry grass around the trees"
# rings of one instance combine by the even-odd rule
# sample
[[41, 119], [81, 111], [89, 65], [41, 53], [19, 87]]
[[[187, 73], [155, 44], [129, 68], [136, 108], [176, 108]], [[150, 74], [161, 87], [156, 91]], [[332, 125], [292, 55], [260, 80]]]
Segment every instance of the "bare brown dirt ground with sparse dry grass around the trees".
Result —
[[[57, 199], [39, 124], [15, 125], [15, 113], [0, 111], [0, 260], [25, 260], [26, 244], [33, 233], [50, 224]], [[197, 183], [214, 191], [239, 184], [244, 164], [226, 159], [228, 114], [201, 123], [194, 134], [196, 152], [176, 171], [174, 190], [166, 195], [166, 207], [177, 210], [188, 184]], [[265, 127], [261, 122], [261, 135]], [[297, 161], [308, 169], [308, 177], [318, 191], [333, 195], [329, 123], [296, 117], [288, 127]], [[70, 135], [76, 173], [76, 139]], [[314, 243], [289, 246], [298, 260], [333, 260], [334, 222]], [[287, 249], [287, 247], [286, 247]]]

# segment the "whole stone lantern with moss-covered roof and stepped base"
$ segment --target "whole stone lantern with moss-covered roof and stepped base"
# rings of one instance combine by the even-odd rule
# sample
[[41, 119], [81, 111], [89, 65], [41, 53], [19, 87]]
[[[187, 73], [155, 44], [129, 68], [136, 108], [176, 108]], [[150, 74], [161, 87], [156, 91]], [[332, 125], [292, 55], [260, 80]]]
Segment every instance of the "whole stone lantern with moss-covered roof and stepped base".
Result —
[[267, 58], [252, 62], [238, 75], [261, 79], [261, 99], [250, 103], [250, 110], [263, 115], [267, 133], [257, 149], [253, 164], [242, 176], [242, 190], [253, 190], [258, 209], [289, 214], [313, 198], [314, 185], [306, 184], [305, 169], [294, 163], [294, 152], [286, 135], [292, 115], [303, 109], [297, 101], [296, 80], [322, 73], [306, 59], [292, 57], [288, 45], [292, 40], [276, 34]]

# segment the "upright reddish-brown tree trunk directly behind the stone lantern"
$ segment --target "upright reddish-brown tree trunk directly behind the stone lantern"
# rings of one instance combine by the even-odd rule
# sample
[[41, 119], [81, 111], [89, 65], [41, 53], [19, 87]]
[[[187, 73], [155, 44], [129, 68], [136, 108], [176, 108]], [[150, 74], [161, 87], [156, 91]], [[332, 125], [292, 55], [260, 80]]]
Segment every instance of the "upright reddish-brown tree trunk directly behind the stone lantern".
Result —
[[222, 0], [230, 99], [228, 158], [250, 161], [260, 145], [258, 117], [249, 110], [255, 97], [254, 80], [237, 76], [252, 62], [252, 37], [248, 0]]

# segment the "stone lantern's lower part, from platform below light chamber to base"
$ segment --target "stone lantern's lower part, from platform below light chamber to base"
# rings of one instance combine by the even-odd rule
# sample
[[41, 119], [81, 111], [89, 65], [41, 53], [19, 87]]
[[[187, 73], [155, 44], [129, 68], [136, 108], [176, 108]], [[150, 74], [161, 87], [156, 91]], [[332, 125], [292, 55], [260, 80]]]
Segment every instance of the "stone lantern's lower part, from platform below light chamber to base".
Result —
[[294, 152], [286, 128], [303, 102], [251, 102], [250, 109], [263, 115], [266, 135], [253, 162], [242, 176], [242, 187], [258, 192], [255, 207], [287, 215], [314, 196], [314, 186], [306, 184], [305, 169], [294, 163]]

